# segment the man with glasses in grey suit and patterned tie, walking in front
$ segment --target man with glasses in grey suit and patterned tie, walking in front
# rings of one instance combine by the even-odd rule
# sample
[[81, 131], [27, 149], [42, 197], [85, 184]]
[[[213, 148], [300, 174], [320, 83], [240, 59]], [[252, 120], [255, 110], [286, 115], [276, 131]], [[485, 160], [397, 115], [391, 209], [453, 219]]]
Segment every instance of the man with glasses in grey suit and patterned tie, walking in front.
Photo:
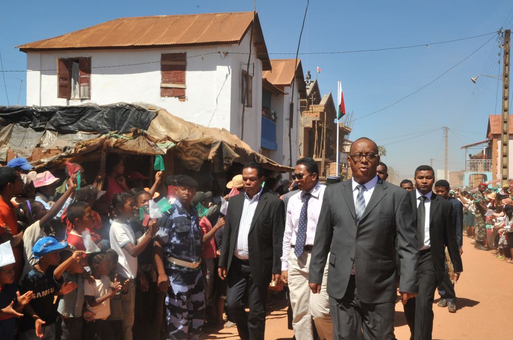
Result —
[[320, 292], [329, 255], [333, 338], [393, 339], [396, 239], [403, 303], [416, 296], [418, 249], [408, 192], [379, 179], [378, 146], [353, 142], [352, 179], [326, 188], [310, 260], [309, 286]]

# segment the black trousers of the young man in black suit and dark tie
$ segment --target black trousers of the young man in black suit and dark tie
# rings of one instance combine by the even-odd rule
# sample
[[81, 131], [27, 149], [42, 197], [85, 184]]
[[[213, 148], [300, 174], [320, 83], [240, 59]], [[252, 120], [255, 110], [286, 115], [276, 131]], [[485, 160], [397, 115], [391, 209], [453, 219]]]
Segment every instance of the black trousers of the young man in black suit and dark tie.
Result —
[[437, 271], [433, 265], [431, 251], [419, 252], [419, 295], [404, 305], [404, 315], [410, 328], [412, 340], [431, 340], [433, 332], [433, 300], [438, 285]]

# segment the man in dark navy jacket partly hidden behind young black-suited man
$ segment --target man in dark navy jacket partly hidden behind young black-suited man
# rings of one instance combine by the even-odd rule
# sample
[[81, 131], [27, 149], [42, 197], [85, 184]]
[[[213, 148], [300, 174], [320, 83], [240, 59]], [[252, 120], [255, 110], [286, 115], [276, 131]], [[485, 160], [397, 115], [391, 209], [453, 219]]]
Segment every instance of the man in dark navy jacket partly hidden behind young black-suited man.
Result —
[[[460, 256], [463, 254], [463, 204], [454, 197], [449, 196], [450, 185], [444, 179], [439, 179], [435, 183], [435, 191], [438, 196], [448, 200], [452, 204], [452, 222], [456, 228], [456, 242], [460, 249]], [[447, 253], [446, 253], [447, 255]], [[438, 293], [440, 294], [439, 307], [447, 307], [450, 313], [456, 313], [456, 292], [454, 284], [449, 278], [449, 271], [447, 267], [447, 259], [445, 264], [444, 280], [438, 286]]]

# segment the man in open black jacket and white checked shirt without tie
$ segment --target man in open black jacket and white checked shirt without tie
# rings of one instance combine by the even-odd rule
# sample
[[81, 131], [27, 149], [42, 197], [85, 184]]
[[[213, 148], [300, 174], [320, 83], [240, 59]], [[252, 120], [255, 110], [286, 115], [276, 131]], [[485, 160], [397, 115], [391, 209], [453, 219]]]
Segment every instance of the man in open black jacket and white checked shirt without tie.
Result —
[[[219, 277], [228, 280], [227, 308], [241, 339], [264, 339], [269, 282], [280, 284], [285, 206], [262, 188], [264, 171], [248, 163], [244, 193], [230, 198], [224, 227]], [[243, 306], [248, 290], [249, 313]]]

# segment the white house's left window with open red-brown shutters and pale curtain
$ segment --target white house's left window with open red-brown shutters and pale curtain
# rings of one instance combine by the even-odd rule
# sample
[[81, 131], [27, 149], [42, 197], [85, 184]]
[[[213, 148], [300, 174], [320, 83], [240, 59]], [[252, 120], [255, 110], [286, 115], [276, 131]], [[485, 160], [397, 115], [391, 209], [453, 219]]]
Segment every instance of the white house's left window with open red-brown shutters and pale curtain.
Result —
[[57, 58], [57, 98], [91, 99], [91, 58]]

